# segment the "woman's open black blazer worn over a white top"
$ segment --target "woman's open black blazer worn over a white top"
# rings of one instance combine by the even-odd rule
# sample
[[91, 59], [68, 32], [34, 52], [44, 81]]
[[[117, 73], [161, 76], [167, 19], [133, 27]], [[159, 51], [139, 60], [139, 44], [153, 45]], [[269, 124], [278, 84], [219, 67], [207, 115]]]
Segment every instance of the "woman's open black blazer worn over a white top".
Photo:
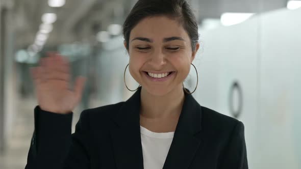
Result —
[[[140, 91], [126, 102], [84, 110], [73, 134], [72, 114], [53, 114], [37, 106], [25, 168], [142, 169]], [[248, 168], [243, 124], [185, 94], [163, 168]]]

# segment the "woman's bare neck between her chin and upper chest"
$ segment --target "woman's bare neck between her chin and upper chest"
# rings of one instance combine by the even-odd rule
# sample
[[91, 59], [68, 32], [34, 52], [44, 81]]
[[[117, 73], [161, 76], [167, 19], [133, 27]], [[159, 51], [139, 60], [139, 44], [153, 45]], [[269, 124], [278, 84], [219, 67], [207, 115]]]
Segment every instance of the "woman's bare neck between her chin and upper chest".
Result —
[[147, 119], [178, 117], [184, 103], [182, 85], [163, 96], [156, 96], [141, 88], [140, 115]]

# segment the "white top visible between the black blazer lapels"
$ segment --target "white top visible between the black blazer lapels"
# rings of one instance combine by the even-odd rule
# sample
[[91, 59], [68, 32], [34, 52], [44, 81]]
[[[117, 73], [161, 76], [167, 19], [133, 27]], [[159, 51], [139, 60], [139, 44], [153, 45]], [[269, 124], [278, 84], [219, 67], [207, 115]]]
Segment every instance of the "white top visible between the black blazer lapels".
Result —
[[162, 169], [174, 132], [156, 133], [140, 126], [144, 169]]

